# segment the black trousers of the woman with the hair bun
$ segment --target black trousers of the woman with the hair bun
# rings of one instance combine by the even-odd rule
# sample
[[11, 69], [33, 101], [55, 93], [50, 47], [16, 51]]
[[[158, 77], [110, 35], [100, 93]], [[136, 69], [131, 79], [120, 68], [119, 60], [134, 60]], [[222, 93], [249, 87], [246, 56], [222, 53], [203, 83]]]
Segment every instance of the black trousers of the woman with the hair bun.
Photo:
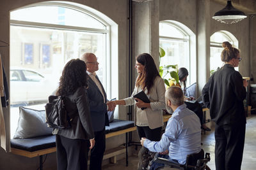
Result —
[[216, 170], [241, 169], [245, 137], [245, 123], [215, 125]]

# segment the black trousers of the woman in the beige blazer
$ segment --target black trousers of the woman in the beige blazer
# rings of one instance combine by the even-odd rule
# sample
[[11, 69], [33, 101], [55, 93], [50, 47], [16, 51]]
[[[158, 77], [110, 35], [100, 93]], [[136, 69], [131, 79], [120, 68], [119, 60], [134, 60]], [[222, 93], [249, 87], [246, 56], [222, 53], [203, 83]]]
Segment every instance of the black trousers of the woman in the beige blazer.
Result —
[[150, 129], [148, 126], [137, 126], [137, 131], [141, 138], [150, 139], [150, 141], [160, 141], [162, 127], [156, 129]]

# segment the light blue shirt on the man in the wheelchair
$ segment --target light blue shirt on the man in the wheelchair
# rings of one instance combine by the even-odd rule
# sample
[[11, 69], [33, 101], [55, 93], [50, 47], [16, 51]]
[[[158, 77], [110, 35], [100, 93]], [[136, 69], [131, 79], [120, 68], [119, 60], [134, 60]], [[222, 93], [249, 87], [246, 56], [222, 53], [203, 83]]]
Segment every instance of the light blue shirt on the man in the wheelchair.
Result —
[[151, 152], [164, 152], [169, 149], [169, 159], [186, 164], [186, 157], [201, 150], [201, 124], [196, 114], [180, 105], [168, 120], [160, 141], [146, 139], [144, 146]]

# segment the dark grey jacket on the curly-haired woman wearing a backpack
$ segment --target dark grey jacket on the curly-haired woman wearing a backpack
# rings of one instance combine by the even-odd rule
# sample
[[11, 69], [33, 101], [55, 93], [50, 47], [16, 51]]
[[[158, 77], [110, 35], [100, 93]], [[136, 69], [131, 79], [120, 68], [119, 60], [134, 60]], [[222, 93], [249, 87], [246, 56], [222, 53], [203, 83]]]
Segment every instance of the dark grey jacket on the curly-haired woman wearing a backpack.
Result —
[[92, 120], [84, 87], [79, 87], [74, 94], [65, 96], [64, 103], [68, 117], [72, 118], [71, 127], [68, 129], [54, 129], [52, 133], [70, 139], [94, 138]]

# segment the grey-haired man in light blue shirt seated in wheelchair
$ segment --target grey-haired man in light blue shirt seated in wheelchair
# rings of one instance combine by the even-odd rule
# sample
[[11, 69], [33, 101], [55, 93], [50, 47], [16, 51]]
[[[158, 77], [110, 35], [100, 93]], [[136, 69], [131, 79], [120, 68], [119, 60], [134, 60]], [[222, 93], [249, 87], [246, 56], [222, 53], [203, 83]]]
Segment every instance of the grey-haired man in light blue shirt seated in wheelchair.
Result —
[[[165, 92], [166, 108], [172, 109], [172, 117], [168, 120], [165, 132], [160, 141], [150, 141], [141, 138], [141, 145], [151, 152], [160, 152], [157, 155], [168, 159], [166, 164], [174, 164], [179, 169], [186, 169], [187, 155], [200, 154], [204, 158], [201, 149], [201, 125], [196, 114], [186, 108], [184, 95], [180, 87], [169, 87]], [[168, 153], [163, 155], [162, 153]], [[203, 152], [203, 153], [202, 153]], [[164, 159], [150, 162], [150, 169], [164, 166]], [[156, 160], [156, 157], [155, 159]], [[196, 163], [195, 163], [196, 164]], [[195, 168], [194, 168], [195, 169]]]

